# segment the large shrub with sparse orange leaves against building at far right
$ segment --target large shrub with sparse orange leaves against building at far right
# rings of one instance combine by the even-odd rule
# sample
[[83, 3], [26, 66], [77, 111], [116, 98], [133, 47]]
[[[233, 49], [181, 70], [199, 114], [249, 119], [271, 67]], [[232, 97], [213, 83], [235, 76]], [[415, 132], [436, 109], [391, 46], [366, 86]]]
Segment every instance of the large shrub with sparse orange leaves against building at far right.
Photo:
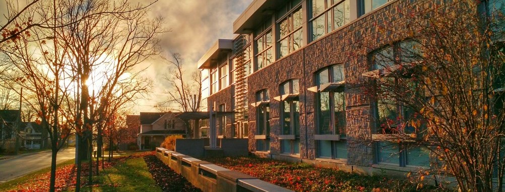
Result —
[[[503, 8], [492, 1], [396, 7], [398, 21], [362, 39], [360, 46], [375, 50], [358, 54], [372, 67], [361, 85], [375, 108], [367, 145], [399, 151], [393, 156], [428, 151], [412, 157], [429, 167], [413, 178], [440, 184], [453, 177], [460, 191], [502, 191]], [[385, 37], [394, 40], [376, 44]]]

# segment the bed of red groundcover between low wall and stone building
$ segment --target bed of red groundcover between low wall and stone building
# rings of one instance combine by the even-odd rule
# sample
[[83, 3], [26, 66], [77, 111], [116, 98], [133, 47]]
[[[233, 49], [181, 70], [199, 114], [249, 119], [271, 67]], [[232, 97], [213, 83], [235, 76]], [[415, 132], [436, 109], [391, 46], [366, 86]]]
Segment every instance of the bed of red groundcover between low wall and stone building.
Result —
[[258, 177], [294, 191], [433, 191], [408, 180], [348, 173], [315, 167], [307, 163], [289, 163], [258, 157], [222, 157], [205, 159], [219, 166]]

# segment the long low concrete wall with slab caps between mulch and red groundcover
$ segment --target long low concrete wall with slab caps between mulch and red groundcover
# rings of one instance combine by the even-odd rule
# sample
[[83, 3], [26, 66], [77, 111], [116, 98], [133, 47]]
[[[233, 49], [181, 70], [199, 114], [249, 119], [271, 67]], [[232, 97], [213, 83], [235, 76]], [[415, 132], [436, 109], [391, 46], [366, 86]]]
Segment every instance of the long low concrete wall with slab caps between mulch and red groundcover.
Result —
[[206, 192], [292, 191], [165, 148], [156, 148], [156, 157], [184, 176], [194, 186]]

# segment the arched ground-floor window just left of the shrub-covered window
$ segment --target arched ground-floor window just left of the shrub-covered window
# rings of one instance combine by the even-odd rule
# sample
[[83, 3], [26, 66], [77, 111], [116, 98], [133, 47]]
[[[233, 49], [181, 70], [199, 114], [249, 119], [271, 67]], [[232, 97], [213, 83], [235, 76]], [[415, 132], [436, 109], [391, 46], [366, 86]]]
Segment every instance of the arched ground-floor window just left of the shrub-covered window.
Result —
[[345, 130], [345, 77], [343, 65], [316, 74], [319, 157], [347, 159]]

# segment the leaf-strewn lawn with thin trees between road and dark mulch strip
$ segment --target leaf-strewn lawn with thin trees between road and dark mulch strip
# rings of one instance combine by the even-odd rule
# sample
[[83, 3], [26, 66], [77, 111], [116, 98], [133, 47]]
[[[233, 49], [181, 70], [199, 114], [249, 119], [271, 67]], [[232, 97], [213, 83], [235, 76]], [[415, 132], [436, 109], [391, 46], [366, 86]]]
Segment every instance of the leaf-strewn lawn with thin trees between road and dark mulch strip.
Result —
[[[93, 184], [82, 184], [82, 191], [161, 191], [144, 162], [146, 153], [126, 153], [106, 163], [99, 176], [93, 176]], [[100, 162], [101, 165], [101, 162]], [[83, 162], [81, 183], [87, 182], [87, 165]], [[101, 166], [100, 166], [101, 167]], [[11, 181], [0, 183], [0, 191], [47, 191], [51, 169], [45, 168]], [[57, 166], [57, 191], [74, 191], [74, 160]]]

